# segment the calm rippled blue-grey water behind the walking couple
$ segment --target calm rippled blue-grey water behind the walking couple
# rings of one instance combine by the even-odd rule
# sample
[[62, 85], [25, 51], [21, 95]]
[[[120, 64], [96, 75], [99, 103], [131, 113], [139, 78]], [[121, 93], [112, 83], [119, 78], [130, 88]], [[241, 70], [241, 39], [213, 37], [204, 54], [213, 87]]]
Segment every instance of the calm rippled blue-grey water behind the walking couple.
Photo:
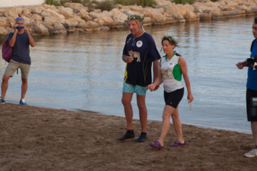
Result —
[[[235, 64], [250, 55], [252, 21], [253, 17], [247, 17], [145, 28], [159, 50], [164, 34], [172, 34], [179, 40], [176, 50], [186, 59], [194, 96], [192, 112], [187, 91], [180, 102], [182, 123], [251, 133], [245, 104], [247, 68], [239, 70]], [[128, 33], [112, 30], [37, 38], [36, 47], [30, 48], [27, 103], [123, 117], [125, 63], [121, 55]], [[1, 60], [1, 78], [5, 67]], [[6, 96], [9, 103], [20, 100], [20, 77], [15, 74], [9, 81]], [[138, 119], [135, 95], [132, 105], [134, 118]], [[161, 121], [162, 85], [158, 91], [148, 91], [146, 105], [149, 120]]]

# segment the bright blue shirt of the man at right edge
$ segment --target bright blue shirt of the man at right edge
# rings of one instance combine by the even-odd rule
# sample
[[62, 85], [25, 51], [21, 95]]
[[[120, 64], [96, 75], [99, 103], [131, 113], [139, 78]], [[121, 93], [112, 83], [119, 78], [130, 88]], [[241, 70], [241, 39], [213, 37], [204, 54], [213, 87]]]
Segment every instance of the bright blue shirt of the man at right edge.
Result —
[[[252, 46], [252, 53], [250, 55], [251, 58], [253, 56], [257, 56], [257, 41], [254, 41], [254, 44]], [[248, 67], [248, 77], [247, 77], [247, 83], [246, 87], [251, 90], [257, 90], [257, 69], [253, 70], [252, 67]]]

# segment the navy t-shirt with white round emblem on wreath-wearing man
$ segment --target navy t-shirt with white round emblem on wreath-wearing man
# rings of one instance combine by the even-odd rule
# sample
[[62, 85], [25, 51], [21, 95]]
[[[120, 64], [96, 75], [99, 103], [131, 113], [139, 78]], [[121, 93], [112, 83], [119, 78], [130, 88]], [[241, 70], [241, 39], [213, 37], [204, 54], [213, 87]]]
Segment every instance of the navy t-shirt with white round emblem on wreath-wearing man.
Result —
[[153, 37], [144, 32], [139, 37], [128, 34], [123, 54], [134, 60], [127, 63], [124, 82], [132, 85], [148, 86], [152, 83], [152, 62], [160, 59]]

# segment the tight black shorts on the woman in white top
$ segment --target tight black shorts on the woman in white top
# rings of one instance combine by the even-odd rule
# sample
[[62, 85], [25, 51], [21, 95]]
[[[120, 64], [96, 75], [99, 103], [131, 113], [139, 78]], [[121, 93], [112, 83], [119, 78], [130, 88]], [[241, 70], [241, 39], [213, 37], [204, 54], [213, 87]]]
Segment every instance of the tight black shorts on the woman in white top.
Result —
[[177, 89], [172, 92], [166, 92], [164, 90], [164, 101], [166, 105], [177, 108], [178, 103], [181, 101], [184, 95], [184, 88]]

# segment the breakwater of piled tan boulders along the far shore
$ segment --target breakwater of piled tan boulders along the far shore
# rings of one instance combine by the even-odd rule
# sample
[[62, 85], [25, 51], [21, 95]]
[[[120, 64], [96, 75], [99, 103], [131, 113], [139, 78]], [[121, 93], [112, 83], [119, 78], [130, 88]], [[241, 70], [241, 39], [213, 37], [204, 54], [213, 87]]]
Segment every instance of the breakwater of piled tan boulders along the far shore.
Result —
[[59, 33], [85, 32], [124, 28], [130, 14], [144, 15], [145, 25], [164, 25], [176, 22], [214, 20], [221, 17], [237, 17], [257, 14], [255, 0], [224, 0], [211, 2], [197, 0], [194, 4], [181, 5], [168, 0], [156, 0], [154, 8], [117, 5], [111, 11], [95, 9], [89, 12], [79, 3], [65, 6], [43, 4], [0, 9], [0, 35], [13, 31], [16, 17], [24, 17], [26, 26], [34, 36]]

